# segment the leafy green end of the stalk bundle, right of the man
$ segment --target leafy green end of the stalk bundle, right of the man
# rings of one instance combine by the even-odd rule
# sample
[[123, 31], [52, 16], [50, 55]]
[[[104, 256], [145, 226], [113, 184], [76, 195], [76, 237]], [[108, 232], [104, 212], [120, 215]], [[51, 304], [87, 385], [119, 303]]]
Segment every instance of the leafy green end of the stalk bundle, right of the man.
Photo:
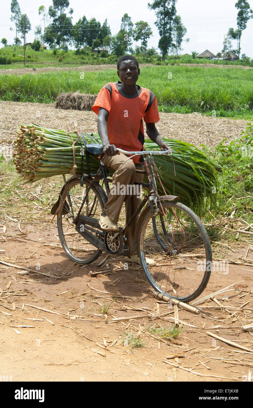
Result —
[[[154, 156], [154, 162], [165, 191], [178, 195], [180, 202], [192, 208], [198, 215], [205, 211], [207, 204], [216, 208], [218, 165], [190, 143], [165, 137], [163, 140], [172, 147], [172, 157]], [[157, 150], [158, 146], [152, 140], [145, 139], [145, 148]], [[159, 183], [157, 188], [159, 194], [164, 195]]]

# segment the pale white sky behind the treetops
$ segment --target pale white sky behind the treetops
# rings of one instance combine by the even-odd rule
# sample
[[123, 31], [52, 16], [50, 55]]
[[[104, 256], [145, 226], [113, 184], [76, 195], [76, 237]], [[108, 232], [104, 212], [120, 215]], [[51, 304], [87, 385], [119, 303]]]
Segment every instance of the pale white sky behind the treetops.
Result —
[[[230, 27], [236, 26], [236, 16], [238, 10], [235, 8], [237, 0], [178, 0], [176, 2], [177, 14], [182, 18], [183, 24], [187, 28], [185, 38], [190, 38], [188, 43], [183, 42], [183, 53], [197, 51], [201, 53], [209, 49], [215, 55], [222, 50], [222, 41], [224, 34]], [[27, 14], [31, 21], [32, 30], [27, 34], [27, 42], [33, 42], [35, 26], [41, 24], [38, 9], [44, 5], [47, 9], [52, 5], [51, 0], [18, 0], [21, 13]], [[152, 0], [150, 0], [152, 3]], [[248, 0], [251, 9], [253, 9], [253, 0]], [[97, 0], [96, 2], [70, 0], [70, 7], [74, 9], [73, 20], [75, 23], [82, 16], [96, 18], [101, 24], [108, 19], [112, 35], [120, 29], [121, 18], [124, 13], [132, 18], [135, 23], [139, 20], [147, 21], [153, 30], [153, 37], [150, 38], [148, 47], [158, 47], [159, 34], [154, 22], [156, 16], [154, 11], [147, 8], [148, 1], [145, 0], [128, 0], [121, 3], [117, 0]], [[0, 13], [0, 41], [7, 38], [9, 44], [13, 43], [15, 32], [10, 31], [10, 27], [15, 30], [15, 25], [10, 20], [11, 17], [11, 0], [2, 1]], [[253, 58], [253, 19], [249, 20], [246, 30], [243, 31], [241, 38], [241, 54]], [[133, 44], [134, 46], [135, 44]], [[2, 46], [2, 44], [0, 44]], [[134, 47], [133, 47], [134, 48]], [[236, 41], [233, 42], [233, 48], [236, 49]], [[159, 50], [158, 50], [159, 51]]]

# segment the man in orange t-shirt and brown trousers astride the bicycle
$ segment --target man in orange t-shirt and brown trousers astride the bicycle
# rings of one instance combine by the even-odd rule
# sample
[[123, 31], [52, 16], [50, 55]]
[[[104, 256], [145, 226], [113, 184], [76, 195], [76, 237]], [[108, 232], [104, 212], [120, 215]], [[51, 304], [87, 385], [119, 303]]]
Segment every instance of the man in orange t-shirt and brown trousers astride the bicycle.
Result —
[[[147, 135], [156, 142], [161, 150], [171, 148], [159, 135], [155, 123], [160, 120], [157, 101], [154, 93], [136, 85], [140, 75], [138, 61], [132, 55], [123, 55], [117, 63], [117, 74], [120, 81], [109, 82], [99, 92], [92, 110], [98, 114], [97, 129], [103, 144], [103, 159], [106, 166], [115, 170], [112, 185], [132, 185], [141, 183], [143, 174], [136, 173], [136, 168], [143, 168], [143, 157], [134, 156], [125, 162], [128, 156], [119, 153], [117, 148], [125, 151], [142, 151], [144, 144], [143, 119], [147, 127]], [[119, 170], [119, 171], [117, 171]], [[123, 202], [126, 208], [126, 223], [139, 207], [141, 199], [136, 195], [114, 195], [111, 193], [99, 225], [103, 230], [119, 231], [117, 222]], [[127, 234], [129, 262], [138, 262], [134, 245], [136, 222]], [[149, 263], [154, 261], [149, 260]]]

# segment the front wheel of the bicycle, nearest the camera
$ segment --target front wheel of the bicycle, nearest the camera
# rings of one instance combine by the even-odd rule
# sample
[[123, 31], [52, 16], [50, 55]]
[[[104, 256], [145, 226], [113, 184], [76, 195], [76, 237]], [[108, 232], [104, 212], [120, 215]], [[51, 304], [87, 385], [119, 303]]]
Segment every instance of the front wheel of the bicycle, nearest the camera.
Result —
[[[158, 239], [151, 210], [141, 224], [137, 245], [141, 265], [156, 291], [190, 302], [203, 292], [209, 281], [212, 265], [209, 237], [190, 208], [170, 201], [161, 204], [167, 221], [159, 209], [154, 216]], [[148, 266], [146, 258], [154, 259], [156, 264]]]

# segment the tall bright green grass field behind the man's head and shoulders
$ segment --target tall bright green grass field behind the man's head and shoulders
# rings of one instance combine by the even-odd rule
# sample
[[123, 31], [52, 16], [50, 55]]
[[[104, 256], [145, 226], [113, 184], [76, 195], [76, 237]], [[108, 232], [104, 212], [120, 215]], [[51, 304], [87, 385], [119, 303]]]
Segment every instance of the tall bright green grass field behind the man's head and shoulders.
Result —
[[[81, 71], [81, 70], [80, 70]], [[0, 99], [54, 102], [58, 93], [98, 93], [107, 82], [118, 80], [116, 70], [1, 75]], [[189, 66], [141, 69], [137, 82], [152, 89], [165, 112], [202, 112], [216, 116], [253, 118], [253, 71]]]

